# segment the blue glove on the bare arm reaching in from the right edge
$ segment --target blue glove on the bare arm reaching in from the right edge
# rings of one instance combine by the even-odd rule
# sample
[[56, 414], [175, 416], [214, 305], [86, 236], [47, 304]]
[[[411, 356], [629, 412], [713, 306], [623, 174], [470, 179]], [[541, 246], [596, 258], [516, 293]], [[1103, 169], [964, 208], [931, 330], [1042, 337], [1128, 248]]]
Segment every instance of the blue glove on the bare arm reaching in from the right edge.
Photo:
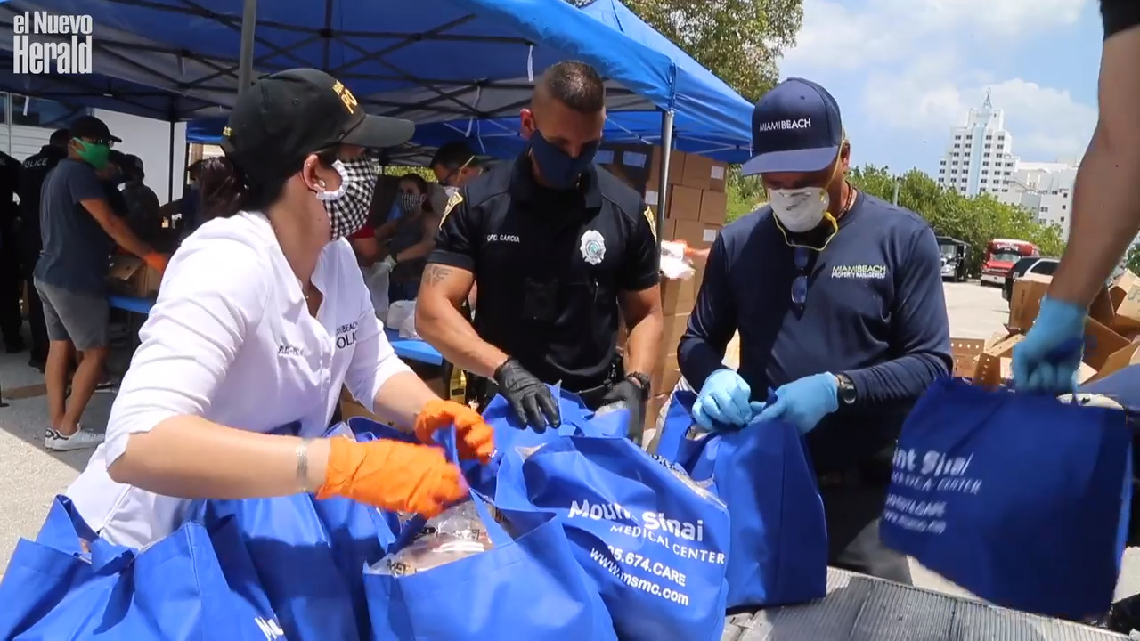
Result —
[[1082, 307], [1041, 299], [1037, 319], [1025, 340], [1013, 347], [1013, 388], [1054, 395], [1074, 391], [1086, 316]]

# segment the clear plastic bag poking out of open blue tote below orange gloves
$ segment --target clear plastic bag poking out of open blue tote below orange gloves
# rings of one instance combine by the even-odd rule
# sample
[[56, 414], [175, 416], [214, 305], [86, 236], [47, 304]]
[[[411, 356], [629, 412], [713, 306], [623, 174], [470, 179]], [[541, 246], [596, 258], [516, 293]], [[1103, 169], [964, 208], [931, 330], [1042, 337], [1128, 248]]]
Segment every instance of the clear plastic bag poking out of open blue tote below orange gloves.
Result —
[[[400, 516], [401, 521], [410, 517]], [[399, 552], [368, 568], [370, 574], [407, 576], [486, 552], [494, 547], [487, 527], [467, 502], [429, 520], [415, 538]]]

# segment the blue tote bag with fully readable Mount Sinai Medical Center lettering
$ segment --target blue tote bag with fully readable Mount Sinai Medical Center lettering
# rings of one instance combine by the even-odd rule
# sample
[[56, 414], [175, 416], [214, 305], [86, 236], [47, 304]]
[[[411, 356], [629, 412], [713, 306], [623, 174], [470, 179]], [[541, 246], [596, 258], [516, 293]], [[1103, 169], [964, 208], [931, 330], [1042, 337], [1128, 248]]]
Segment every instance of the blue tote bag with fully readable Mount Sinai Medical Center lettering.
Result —
[[720, 639], [728, 512], [683, 471], [624, 438], [562, 436], [505, 453], [497, 480], [512, 522], [559, 516], [621, 639]]

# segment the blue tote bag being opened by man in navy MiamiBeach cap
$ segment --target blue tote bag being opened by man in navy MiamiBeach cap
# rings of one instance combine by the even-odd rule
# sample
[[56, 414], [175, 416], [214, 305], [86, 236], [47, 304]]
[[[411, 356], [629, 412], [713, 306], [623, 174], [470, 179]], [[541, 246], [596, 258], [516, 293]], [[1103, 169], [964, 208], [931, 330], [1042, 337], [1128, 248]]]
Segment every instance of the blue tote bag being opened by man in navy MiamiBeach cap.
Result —
[[674, 392], [658, 455], [693, 480], [712, 484], [728, 508], [727, 606], [782, 606], [828, 591], [828, 528], [815, 472], [789, 423], [706, 432], [694, 425], [697, 395]]

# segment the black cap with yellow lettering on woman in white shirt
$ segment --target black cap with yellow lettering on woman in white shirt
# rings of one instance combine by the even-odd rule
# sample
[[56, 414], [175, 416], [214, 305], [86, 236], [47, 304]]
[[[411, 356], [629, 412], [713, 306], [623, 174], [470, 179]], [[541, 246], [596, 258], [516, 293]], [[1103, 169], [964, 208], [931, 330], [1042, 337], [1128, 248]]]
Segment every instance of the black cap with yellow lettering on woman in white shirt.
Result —
[[369, 149], [407, 143], [412, 121], [368, 115], [341, 81], [315, 68], [261, 78], [238, 97], [221, 147], [254, 181], [296, 172], [306, 156], [337, 144]]

